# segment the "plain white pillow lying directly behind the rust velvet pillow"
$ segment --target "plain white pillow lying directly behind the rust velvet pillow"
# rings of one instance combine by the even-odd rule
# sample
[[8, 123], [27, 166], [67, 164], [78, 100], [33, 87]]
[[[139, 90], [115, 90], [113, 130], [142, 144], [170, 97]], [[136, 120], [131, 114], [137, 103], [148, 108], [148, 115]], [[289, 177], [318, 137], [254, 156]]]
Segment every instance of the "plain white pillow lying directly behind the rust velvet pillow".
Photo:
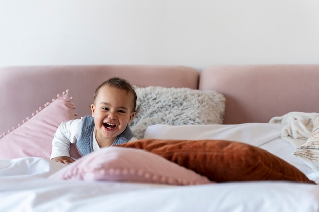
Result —
[[313, 170], [307, 164], [291, 154], [294, 152], [294, 147], [280, 137], [281, 130], [282, 125], [273, 123], [184, 126], [159, 124], [149, 126], [145, 131], [144, 138], [239, 141], [267, 150], [291, 165], [294, 165], [304, 174], [313, 173]]

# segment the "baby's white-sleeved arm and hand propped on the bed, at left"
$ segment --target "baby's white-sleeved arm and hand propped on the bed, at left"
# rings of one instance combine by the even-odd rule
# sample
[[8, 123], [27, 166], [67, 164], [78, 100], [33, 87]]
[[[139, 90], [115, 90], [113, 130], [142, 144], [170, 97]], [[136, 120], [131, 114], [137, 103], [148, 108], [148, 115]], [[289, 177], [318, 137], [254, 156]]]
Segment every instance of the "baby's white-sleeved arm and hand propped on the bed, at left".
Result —
[[52, 161], [64, 164], [74, 162], [70, 157], [70, 144], [77, 142], [81, 133], [81, 125], [82, 118], [60, 124], [52, 140]]

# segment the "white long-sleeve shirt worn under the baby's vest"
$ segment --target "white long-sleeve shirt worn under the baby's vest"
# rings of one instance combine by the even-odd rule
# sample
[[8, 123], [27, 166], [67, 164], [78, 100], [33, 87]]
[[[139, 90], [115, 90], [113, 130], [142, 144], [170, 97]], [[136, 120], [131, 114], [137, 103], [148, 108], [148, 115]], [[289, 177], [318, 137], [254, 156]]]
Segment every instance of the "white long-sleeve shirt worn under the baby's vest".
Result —
[[[75, 120], [69, 120], [67, 122], [62, 122], [57, 131], [54, 134], [52, 140], [52, 153], [51, 159], [59, 156], [70, 157], [70, 144], [76, 143], [79, 135], [81, 134], [83, 117]], [[95, 127], [94, 127], [95, 128]], [[136, 141], [136, 137], [132, 137], [130, 141]], [[93, 133], [93, 150], [99, 150], [100, 147], [96, 141], [95, 133]]]

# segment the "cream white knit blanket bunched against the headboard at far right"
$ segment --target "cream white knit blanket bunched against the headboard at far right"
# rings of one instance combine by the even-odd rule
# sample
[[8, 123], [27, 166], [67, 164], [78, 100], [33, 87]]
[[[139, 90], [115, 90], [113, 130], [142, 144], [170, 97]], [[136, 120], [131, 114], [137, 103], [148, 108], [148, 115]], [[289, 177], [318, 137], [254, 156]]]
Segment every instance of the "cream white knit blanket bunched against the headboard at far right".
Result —
[[284, 125], [281, 138], [289, 141], [294, 148], [306, 143], [312, 133], [313, 122], [319, 117], [319, 113], [290, 112], [280, 117], [273, 117], [269, 123]]

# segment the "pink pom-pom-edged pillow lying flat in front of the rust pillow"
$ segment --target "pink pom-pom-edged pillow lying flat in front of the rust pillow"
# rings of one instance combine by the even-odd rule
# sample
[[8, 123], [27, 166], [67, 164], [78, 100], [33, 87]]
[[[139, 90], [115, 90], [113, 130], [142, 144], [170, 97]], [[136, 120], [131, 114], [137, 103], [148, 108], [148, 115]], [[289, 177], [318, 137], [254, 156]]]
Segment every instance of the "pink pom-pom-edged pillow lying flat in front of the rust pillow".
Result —
[[142, 149], [116, 146], [92, 152], [62, 168], [49, 178], [169, 185], [213, 183], [206, 177], [157, 154]]

